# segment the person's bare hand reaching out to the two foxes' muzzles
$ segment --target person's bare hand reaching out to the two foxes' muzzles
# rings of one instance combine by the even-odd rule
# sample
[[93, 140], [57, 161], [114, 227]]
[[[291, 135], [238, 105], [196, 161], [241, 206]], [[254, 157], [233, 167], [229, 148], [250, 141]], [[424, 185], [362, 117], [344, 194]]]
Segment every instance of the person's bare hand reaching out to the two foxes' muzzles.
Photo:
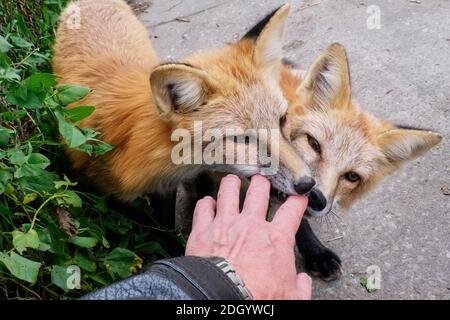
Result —
[[311, 299], [312, 280], [297, 274], [294, 256], [307, 198], [290, 196], [268, 222], [269, 181], [252, 177], [241, 213], [240, 185], [238, 177], [228, 175], [217, 203], [211, 197], [197, 202], [186, 255], [228, 260], [255, 299]]

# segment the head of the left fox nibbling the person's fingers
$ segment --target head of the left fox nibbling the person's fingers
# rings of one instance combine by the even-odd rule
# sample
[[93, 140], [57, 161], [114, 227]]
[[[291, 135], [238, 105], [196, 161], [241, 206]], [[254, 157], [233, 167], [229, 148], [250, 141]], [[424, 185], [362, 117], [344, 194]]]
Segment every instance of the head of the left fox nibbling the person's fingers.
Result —
[[[284, 193], [304, 194], [315, 184], [311, 172], [279, 133], [280, 123], [285, 121], [287, 112], [279, 79], [283, 68], [281, 51], [288, 11], [288, 5], [275, 10], [237, 43], [194, 54], [181, 63], [157, 66], [151, 74], [150, 84], [161, 118], [170, 124], [172, 130], [182, 129], [194, 136], [194, 123], [201, 121], [203, 133], [216, 130], [222, 134], [223, 140], [233, 140], [233, 150], [244, 145], [248, 153], [250, 149], [255, 151], [257, 148], [256, 143], [249, 141], [259, 141], [261, 136], [239, 141], [234, 134], [228, 137], [227, 129], [234, 132], [275, 130], [278, 141], [267, 141], [267, 148], [271, 156], [279, 161], [279, 167], [268, 178], [275, 188]], [[221, 137], [217, 139], [222, 141]], [[227, 148], [230, 146], [223, 143], [225, 145]], [[201, 152], [205, 148], [203, 144]], [[223, 168], [222, 165], [216, 167]], [[257, 161], [226, 164], [225, 169], [230, 171], [231, 168], [241, 175], [250, 176], [261, 173], [262, 167], [264, 164]], [[214, 167], [209, 166], [211, 168]]]

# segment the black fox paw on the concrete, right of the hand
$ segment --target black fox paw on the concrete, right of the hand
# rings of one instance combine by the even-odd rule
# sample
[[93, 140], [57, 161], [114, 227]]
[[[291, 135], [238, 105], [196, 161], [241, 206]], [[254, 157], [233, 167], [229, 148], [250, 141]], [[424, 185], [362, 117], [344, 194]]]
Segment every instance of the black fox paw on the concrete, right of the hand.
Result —
[[342, 275], [341, 259], [328, 248], [304, 257], [306, 269], [315, 277], [325, 281], [338, 279]]

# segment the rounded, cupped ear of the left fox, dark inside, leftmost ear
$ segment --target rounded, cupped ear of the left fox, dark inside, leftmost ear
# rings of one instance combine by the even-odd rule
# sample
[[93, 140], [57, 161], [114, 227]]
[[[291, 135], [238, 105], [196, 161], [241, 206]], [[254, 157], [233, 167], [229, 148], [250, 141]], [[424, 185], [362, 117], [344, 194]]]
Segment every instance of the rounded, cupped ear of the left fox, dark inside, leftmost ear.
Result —
[[150, 76], [150, 86], [162, 116], [195, 110], [213, 88], [206, 72], [181, 63], [156, 67]]

